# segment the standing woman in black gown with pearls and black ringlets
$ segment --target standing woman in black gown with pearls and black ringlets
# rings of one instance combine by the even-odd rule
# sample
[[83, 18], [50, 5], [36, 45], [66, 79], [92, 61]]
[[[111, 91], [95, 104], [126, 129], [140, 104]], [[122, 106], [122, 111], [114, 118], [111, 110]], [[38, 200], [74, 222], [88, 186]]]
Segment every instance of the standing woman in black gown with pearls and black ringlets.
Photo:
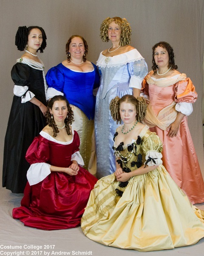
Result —
[[45, 31], [38, 26], [21, 26], [15, 44], [18, 50], [26, 50], [11, 70], [15, 85], [4, 143], [3, 187], [23, 193], [29, 168], [26, 151], [45, 126], [47, 85], [44, 65], [37, 56], [37, 51], [46, 47]]

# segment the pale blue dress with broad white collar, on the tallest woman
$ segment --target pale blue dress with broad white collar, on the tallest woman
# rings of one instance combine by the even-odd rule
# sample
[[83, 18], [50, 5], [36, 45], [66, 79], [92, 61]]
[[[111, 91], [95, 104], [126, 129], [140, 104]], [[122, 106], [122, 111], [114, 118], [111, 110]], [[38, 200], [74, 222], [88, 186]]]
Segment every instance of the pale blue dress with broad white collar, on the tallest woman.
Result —
[[137, 49], [132, 49], [113, 57], [99, 55], [96, 63], [101, 74], [100, 87], [96, 95], [95, 136], [97, 156], [97, 177], [115, 172], [113, 155], [113, 135], [117, 124], [111, 118], [111, 99], [125, 94], [133, 94], [133, 87], [141, 89], [142, 80], [147, 75], [147, 64]]

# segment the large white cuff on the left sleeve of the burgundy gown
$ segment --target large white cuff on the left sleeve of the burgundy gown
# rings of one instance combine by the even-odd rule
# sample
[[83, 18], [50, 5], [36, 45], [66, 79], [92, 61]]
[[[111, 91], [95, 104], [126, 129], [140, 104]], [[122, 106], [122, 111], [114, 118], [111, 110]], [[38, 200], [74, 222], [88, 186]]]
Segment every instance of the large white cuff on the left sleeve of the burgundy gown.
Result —
[[44, 180], [50, 173], [50, 164], [48, 163], [33, 163], [27, 172], [27, 179], [30, 186]]

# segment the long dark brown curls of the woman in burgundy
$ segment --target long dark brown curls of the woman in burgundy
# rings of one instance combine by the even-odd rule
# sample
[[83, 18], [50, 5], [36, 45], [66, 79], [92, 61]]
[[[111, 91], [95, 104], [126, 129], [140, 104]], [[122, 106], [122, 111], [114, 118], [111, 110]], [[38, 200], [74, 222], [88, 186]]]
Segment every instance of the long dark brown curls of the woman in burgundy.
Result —
[[54, 118], [51, 118], [52, 115], [50, 113], [50, 109], [52, 109], [53, 104], [56, 101], [65, 101], [67, 104], [68, 113], [67, 113], [67, 117], [65, 118], [65, 128], [66, 128], [67, 134], [71, 135], [71, 131], [70, 131], [71, 129], [70, 129], [69, 125], [71, 125], [72, 122], [74, 122], [74, 113], [71, 110], [71, 106], [69, 105], [68, 100], [62, 95], [57, 95], [57, 96], [54, 96], [53, 98], [51, 98], [51, 100], [48, 102], [48, 110], [45, 113], [45, 118], [46, 118], [46, 121], [47, 121], [49, 127], [53, 128], [53, 133], [54, 133], [53, 137], [57, 137], [57, 133], [59, 133], [59, 130], [54, 121]]

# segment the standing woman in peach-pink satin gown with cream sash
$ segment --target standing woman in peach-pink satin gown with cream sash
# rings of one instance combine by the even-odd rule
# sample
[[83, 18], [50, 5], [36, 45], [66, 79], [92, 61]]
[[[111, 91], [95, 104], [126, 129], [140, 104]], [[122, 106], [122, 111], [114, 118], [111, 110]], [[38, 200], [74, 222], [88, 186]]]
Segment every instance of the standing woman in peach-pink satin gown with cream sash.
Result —
[[144, 122], [163, 143], [163, 163], [190, 201], [204, 202], [204, 182], [187, 124], [197, 99], [195, 87], [177, 71], [170, 44], [153, 46], [153, 70], [144, 79], [144, 94], [149, 97]]

